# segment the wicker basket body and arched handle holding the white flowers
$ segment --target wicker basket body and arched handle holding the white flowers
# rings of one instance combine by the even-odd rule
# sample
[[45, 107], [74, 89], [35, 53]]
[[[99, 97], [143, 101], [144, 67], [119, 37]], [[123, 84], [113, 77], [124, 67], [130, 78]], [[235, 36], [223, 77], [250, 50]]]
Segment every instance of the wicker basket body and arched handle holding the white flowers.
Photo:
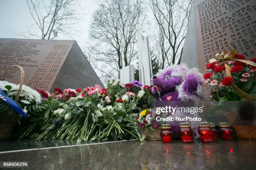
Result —
[[[15, 101], [17, 101], [20, 96], [20, 92], [21, 92], [23, 80], [24, 80], [24, 75], [25, 75], [23, 68], [20, 67], [19, 65], [12, 65], [12, 66], [8, 67], [7, 69], [3, 70], [2, 72], [0, 72], [0, 75], [3, 75], [5, 72], [7, 72], [8, 70], [11, 70], [14, 67], [18, 67], [21, 72], [20, 87], [18, 89], [19, 91], [17, 92], [17, 95], [14, 99]], [[6, 139], [10, 138], [11, 132], [17, 122], [17, 115], [13, 114], [10, 116], [9, 115], [10, 111], [0, 112], [0, 140], [6, 140]]]

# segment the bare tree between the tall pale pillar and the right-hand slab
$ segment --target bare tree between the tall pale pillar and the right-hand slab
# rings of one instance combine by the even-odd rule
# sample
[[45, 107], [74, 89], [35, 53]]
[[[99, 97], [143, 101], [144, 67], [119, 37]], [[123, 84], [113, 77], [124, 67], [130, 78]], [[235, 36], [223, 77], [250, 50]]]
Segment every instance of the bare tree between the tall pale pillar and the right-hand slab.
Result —
[[163, 69], [180, 62], [192, 0], [149, 0], [149, 3], [158, 25]]

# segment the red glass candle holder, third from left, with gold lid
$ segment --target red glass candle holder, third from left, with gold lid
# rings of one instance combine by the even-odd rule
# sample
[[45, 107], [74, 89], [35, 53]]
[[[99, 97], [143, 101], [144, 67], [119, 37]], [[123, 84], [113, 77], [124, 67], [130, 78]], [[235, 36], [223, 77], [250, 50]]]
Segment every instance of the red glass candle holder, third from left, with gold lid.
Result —
[[213, 142], [213, 130], [210, 127], [209, 122], [200, 122], [198, 133], [200, 135], [202, 143], [212, 143]]

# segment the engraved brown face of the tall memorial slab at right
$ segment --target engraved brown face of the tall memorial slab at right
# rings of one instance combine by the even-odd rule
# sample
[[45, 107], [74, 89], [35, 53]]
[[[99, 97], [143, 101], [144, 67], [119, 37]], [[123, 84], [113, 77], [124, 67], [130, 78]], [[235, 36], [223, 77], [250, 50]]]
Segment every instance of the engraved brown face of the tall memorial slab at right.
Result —
[[201, 72], [224, 50], [255, 57], [256, 0], [194, 0], [194, 9]]

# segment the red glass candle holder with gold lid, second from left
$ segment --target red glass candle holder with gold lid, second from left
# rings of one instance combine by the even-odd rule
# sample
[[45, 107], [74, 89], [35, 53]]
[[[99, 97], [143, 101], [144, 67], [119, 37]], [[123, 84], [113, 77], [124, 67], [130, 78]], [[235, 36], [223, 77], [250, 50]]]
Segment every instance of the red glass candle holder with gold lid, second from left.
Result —
[[180, 123], [179, 133], [182, 143], [193, 143], [193, 131], [189, 123]]

